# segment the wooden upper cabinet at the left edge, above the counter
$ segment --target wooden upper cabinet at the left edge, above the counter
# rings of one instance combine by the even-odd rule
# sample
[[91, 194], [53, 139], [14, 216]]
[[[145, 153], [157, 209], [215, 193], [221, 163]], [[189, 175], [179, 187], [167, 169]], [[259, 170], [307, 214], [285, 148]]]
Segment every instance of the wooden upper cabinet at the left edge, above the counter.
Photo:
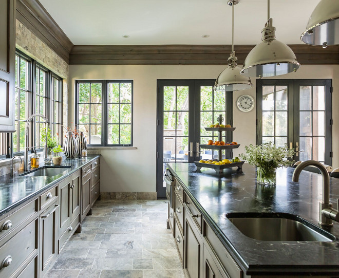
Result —
[[0, 7], [0, 132], [14, 132], [15, 0]]

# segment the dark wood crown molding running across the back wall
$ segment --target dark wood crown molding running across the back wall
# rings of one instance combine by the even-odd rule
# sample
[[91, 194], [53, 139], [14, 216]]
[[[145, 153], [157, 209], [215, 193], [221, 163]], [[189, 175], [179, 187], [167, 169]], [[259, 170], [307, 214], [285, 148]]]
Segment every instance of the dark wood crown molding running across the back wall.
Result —
[[[255, 45], [235, 45], [242, 64]], [[289, 45], [300, 64], [339, 64], [339, 46]], [[74, 45], [70, 65], [225, 65], [231, 45]]]

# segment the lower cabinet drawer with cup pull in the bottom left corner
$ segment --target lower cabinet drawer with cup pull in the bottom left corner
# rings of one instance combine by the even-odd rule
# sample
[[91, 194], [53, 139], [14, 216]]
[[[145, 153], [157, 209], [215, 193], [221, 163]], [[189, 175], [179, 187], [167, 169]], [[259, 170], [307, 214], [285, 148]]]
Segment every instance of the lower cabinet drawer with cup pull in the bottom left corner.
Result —
[[0, 270], [0, 277], [10, 277], [25, 260], [37, 251], [38, 218], [24, 227], [0, 248], [0, 264], [4, 261], [10, 263]]

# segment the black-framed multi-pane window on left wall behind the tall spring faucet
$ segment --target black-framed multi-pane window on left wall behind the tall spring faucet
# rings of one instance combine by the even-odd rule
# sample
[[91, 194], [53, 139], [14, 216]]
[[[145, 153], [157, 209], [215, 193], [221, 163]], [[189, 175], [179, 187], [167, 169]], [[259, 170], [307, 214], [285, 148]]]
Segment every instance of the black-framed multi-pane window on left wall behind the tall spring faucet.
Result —
[[[25, 125], [26, 119], [33, 113], [46, 116], [52, 135], [61, 133], [61, 99], [62, 99], [62, 79], [53, 72], [44, 68], [33, 59], [27, 57], [20, 51], [15, 55], [15, 129], [13, 136], [13, 153], [24, 152], [25, 147]], [[45, 123], [40, 117], [35, 118], [35, 128], [31, 127], [35, 134], [31, 136], [34, 146], [44, 145], [41, 138], [42, 128]], [[2, 146], [10, 140], [5, 137], [0, 138], [0, 158]], [[60, 137], [60, 143], [62, 136]], [[5, 142], [5, 143], [4, 143]], [[41, 148], [39, 148], [41, 149]], [[5, 150], [6, 151], [6, 150]], [[9, 155], [7, 155], [9, 156]]]

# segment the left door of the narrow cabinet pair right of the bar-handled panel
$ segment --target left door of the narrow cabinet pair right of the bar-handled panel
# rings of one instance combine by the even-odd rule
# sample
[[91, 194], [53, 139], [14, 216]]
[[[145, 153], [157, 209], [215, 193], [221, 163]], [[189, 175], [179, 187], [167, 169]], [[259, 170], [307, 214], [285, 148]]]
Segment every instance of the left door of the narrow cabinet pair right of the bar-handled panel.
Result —
[[70, 224], [71, 214], [71, 179], [66, 178], [59, 183], [59, 201], [60, 201], [60, 223], [59, 235], [61, 235]]

